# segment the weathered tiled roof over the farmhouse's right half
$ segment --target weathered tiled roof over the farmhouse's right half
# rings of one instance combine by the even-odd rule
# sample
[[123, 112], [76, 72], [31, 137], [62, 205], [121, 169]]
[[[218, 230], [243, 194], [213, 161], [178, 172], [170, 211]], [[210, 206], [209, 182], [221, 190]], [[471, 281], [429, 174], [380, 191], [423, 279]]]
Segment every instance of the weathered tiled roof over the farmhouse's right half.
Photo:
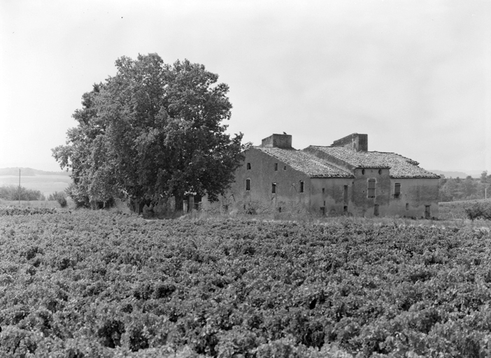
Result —
[[439, 178], [438, 175], [420, 168], [418, 162], [389, 152], [355, 152], [345, 147], [312, 148], [325, 152], [357, 168], [390, 168], [392, 178]]

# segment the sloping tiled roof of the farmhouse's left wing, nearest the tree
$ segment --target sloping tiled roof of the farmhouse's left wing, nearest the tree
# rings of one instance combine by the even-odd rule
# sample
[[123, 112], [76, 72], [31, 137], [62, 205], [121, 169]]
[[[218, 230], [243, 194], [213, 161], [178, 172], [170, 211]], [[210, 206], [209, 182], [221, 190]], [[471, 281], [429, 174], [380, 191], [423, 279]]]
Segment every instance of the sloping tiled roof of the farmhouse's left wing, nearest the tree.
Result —
[[253, 148], [285, 162], [293, 169], [306, 173], [311, 178], [353, 178], [351, 173], [337, 169], [308, 152], [275, 147]]

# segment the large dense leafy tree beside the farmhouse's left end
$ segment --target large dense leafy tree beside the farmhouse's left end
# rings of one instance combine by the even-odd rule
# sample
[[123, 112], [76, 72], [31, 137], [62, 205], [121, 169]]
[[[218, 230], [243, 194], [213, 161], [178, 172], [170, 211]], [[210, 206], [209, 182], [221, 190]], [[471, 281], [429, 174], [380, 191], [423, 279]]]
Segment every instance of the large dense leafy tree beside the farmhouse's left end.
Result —
[[242, 134], [226, 134], [232, 104], [218, 75], [188, 60], [164, 64], [156, 54], [121, 57], [118, 72], [83, 95], [66, 145], [52, 150], [71, 169], [79, 203], [127, 196], [137, 203], [187, 194], [215, 201], [243, 159]]

